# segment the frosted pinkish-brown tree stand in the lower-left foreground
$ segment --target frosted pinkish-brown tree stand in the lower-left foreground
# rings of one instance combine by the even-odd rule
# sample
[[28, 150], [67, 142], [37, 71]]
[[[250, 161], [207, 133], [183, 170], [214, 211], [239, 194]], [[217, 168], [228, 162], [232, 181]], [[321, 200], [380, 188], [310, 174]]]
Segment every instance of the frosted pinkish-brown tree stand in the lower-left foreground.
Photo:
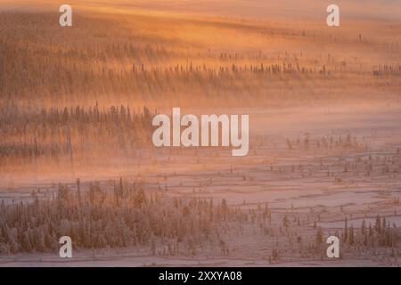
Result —
[[240, 215], [224, 201], [145, 194], [142, 183], [120, 180], [112, 190], [100, 183], [87, 188], [78, 180], [76, 187], [60, 184], [53, 197], [35, 192], [32, 203], [2, 201], [0, 253], [53, 251], [65, 235], [75, 248], [143, 245], [155, 253], [157, 245], [168, 244], [174, 248], [170, 254], [194, 253], [202, 243], [221, 241], [218, 224]]

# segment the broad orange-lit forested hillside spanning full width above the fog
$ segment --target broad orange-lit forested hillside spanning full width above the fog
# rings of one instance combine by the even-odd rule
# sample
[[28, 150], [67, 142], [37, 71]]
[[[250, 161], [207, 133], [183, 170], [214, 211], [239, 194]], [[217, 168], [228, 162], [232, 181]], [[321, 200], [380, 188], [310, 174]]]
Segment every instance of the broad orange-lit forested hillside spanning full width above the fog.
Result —
[[[198, 99], [209, 103], [210, 98], [226, 103], [229, 96], [249, 102], [315, 102], [348, 98], [344, 88], [338, 87], [343, 87], [344, 79], [349, 87], [366, 84], [369, 88], [351, 97], [380, 95], [382, 99], [383, 90], [373, 91], [383, 85], [389, 89], [385, 94], [397, 94], [397, 78], [392, 82], [374, 75], [397, 75], [399, 66], [376, 65], [372, 75], [371, 68], [336, 54], [323, 56], [285, 47], [274, 53], [233, 51], [228, 44], [212, 51], [202, 43], [189, 45], [132, 30], [124, 20], [77, 15], [80, 29], [60, 29], [50, 24], [57, 22], [56, 14], [2, 12], [1, 16], [0, 102], [14, 100], [24, 107], [41, 107], [43, 102], [60, 107], [94, 100], [131, 103], [194, 97], [196, 104]], [[144, 20], [143, 24], [149, 23]], [[356, 77], [350, 80], [351, 75]], [[305, 80], [315, 80], [315, 85], [333, 92], [313, 92], [303, 84]]]

